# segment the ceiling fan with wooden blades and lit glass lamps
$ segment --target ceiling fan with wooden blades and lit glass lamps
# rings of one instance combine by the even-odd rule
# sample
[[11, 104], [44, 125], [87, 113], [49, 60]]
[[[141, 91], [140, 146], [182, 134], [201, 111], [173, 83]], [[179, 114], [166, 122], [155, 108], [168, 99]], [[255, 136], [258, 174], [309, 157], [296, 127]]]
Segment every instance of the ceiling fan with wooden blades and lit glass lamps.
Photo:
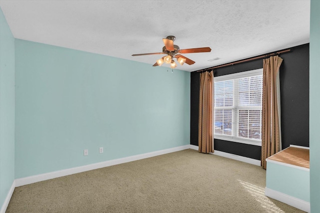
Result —
[[209, 52], [211, 51], [210, 47], [200, 47], [200, 48], [190, 48], [190, 49], [180, 49], [178, 45], [174, 45], [175, 37], [173, 35], [169, 35], [166, 38], [162, 38], [164, 46], [162, 47], [162, 52], [152, 52], [152, 53], [141, 53], [141, 54], [132, 54], [132, 56], [139, 55], [149, 55], [149, 54], [166, 54], [165, 56], [156, 60], [156, 63], [153, 66], [160, 66], [162, 63], [170, 64], [170, 67], [173, 69], [176, 67], [176, 63], [173, 60], [175, 57], [180, 65], [183, 63], [187, 63], [189, 65], [195, 63], [195, 61], [181, 55], [178, 53], [196, 53], [196, 52]]

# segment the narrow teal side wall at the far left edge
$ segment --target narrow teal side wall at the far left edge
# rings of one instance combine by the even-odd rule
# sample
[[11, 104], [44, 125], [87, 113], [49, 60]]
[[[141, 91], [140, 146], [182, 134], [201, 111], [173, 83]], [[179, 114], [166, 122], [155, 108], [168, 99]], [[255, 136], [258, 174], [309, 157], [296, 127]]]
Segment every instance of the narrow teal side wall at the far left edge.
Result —
[[14, 180], [14, 38], [0, 8], [0, 208]]

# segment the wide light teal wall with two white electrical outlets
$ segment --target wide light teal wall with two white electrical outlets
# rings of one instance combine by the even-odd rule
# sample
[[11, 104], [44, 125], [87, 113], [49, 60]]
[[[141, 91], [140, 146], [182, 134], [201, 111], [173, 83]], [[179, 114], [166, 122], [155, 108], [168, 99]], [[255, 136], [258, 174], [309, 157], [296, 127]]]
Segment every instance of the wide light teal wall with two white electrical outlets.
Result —
[[190, 73], [167, 69], [15, 39], [15, 178], [189, 144]]

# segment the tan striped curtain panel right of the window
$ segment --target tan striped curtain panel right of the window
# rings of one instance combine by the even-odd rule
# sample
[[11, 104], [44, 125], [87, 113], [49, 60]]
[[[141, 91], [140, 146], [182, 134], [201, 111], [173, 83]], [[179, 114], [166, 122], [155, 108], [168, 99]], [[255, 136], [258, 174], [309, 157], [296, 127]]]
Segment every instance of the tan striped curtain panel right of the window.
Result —
[[265, 159], [281, 150], [279, 56], [263, 59], [261, 166]]

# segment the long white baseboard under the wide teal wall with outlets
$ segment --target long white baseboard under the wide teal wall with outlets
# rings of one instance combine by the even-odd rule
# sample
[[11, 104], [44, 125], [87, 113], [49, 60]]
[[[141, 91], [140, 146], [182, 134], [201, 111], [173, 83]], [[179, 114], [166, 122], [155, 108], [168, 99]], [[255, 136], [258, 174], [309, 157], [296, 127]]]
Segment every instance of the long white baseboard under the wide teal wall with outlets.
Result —
[[97, 168], [102, 168], [110, 165], [116, 165], [120, 163], [125, 163], [125, 162], [130, 162], [134, 160], [139, 160], [139, 159], [144, 159], [148, 157], [153, 157], [161, 154], [166, 154], [170, 152], [175, 152], [175, 151], [180, 151], [184, 149], [188, 149], [189, 145], [182, 145], [178, 147], [173, 147], [173, 148], [167, 148], [159, 151], [152, 151], [148, 153], [143, 153], [143, 154], [137, 154], [133, 156], [128, 156], [128, 157], [122, 157], [122, 158], [117, 158], [113, 160], [107, 160], [103, 162], [97, 162], [89, 165], [83, 165], [83, 166], [78, 166], [78, 167], [73, 167], [73, 168], [67, 168], [63, 170], [58, 170], [58, 171], [52, 171], [48, 173], [43, 173], [43, 174], [37, 174], [33, 176], [27, 176], [27, 177], [22, 177], [22, 178], [17, 178], [15, 179], [15, 186], [21, 186], [21, 185], [26, 185], [38, 181], [43, 181], [47, 179], [52, 179], [56, 177], [61, 177], [69, 174], [75, 174], [83, 171], [88, 171], [92, 169], [97, 169]]

